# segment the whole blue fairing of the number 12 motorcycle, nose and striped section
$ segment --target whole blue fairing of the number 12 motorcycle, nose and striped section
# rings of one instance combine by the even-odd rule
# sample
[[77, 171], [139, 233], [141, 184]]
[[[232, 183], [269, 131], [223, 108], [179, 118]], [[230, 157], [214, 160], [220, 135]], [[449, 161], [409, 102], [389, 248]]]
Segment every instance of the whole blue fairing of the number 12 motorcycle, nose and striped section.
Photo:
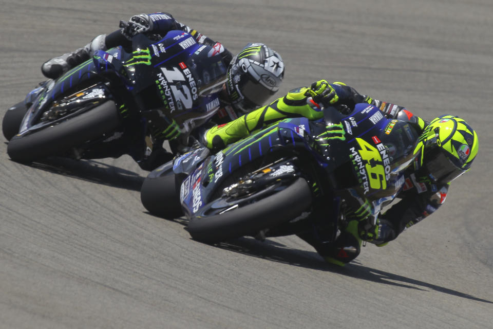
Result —
[[[56, 80], [48, 80], [41, 89], [32, 90], [25, 99], [32, 106], [23, 119], [21, 133], [36, 129], [36, 122], [53, 101], [86, 80], [101, 80], [97, 76], [104, 72], [116, 74], [136, 97], [145, 92], [144, 102], [149, 96], [156, 97], [157, 102], [161, 100], [165, 115], [184, 131], [191, 131], [216, 113], [217, 86], [225, 81], [226, 66], [219, 54], [209, 56], [211, 46], [197, 44], [192, 35], [183, 31], [170, 31], [157, 42], [138, 34], [132, 45], [130, 53], [122, 47], [96, 51], [93, 58]], [[157, 89], [156, 96], [152, 90], [146, 92], [149, 87]], [[211, 93], [201, 94], [207, 91]]]

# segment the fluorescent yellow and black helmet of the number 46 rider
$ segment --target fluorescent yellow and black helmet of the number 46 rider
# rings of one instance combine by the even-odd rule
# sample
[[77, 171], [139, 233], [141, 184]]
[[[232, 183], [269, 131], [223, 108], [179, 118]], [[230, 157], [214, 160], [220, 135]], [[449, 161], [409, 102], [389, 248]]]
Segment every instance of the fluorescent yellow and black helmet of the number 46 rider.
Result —
[[414, 169], [445, 184], [469, 170], [478, 148], [478, 135], [466, 121], [443, 115], [433, 119], [416, 142]]

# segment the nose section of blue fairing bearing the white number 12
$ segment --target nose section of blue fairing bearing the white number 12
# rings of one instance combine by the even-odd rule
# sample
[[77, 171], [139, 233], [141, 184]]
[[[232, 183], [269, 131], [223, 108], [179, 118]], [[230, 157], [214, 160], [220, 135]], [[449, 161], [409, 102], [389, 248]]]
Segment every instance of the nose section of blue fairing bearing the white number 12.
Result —
[[[151, 44], [151, 66], [164, 111], [184, 131], [209, 120], [219, 108], [219, 92], [226, 81], [226, 65], [213, 47], [200, 45], [192, 35], [170, 31]], [[166, 53], [166, 58], [161, 57]]]

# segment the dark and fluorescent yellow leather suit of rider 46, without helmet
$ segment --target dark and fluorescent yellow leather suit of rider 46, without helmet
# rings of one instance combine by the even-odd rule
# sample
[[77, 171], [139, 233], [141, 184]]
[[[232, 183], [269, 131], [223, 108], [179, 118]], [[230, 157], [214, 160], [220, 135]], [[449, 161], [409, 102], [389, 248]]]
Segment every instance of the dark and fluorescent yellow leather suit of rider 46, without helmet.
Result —
[[[334, 82], [329, 86], [334, 91], [330, 104], [338, 107], [340, 111], [352, 109], [356, 103], [366, 102], [380, 108], [387, 118], [408, 122], [419, 133], [428, 124], [403, 106], [360, 95], [354, 88], [344, 83]], [[204, 143], [208, 148], [223, 148], [278, 120], [300, 116], [313, 120], [323, 118], [323, 113], [318, 104], [313, 101], [313, 93], [309, 90], [309, 87], [293, 89], [286, 96], [266, 106], [227, 124], [212, 127], [205, 133]], [[362, 240], [378, 246], [385, 245], [406, 228], [436, 211], [445, 201], [448, 184], [437, 185], [426, 177], [416, 175], [412, 166], [405, 171], [404, 184], [396, 196], [400, 199], [399, 202], [385, 213], [380, 214], [376, 226], [369, 225], [365, 220], [350, 221], [346, 230], [338, 236], [336, 241], [330, 242], [332, 230], [326, 228], [325, 221], [320, 218], [320, 220], [312, 221], [314, 223], [312, 227], [297, 235], [311, 244], [328, 262], [338, 265], [344, 265], [357, 257], [361, 250]]]

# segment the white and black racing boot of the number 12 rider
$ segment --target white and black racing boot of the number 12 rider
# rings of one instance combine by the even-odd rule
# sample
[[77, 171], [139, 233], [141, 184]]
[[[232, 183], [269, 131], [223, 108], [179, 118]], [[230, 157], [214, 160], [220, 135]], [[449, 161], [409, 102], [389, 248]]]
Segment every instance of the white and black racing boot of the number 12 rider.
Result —
[[41, 72], [49, 79], [56, 79], [75, 66], [84, 63], [94, 54], [96, 50], [106, 50], [106, 34], [101, 34], [92, 39], [83, 48], [64, 53], [52, 58], [41, 66]]

